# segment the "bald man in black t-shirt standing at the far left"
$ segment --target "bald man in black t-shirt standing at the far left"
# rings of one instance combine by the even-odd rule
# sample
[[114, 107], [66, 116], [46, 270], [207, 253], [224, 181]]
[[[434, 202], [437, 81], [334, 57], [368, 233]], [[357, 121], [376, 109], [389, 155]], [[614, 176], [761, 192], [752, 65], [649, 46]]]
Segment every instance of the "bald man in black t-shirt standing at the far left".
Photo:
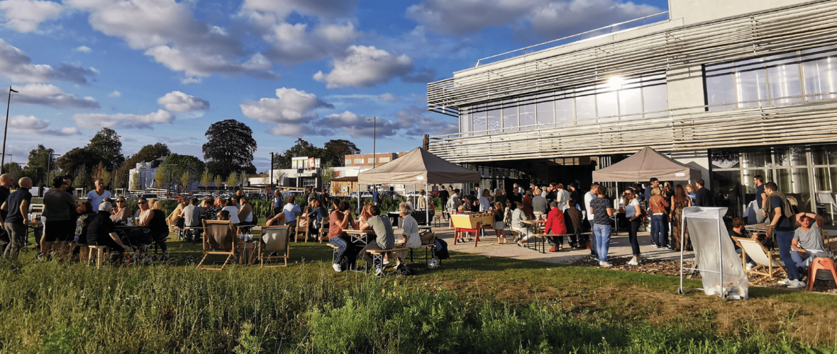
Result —
[[0, 206], [0, 210], [8, 211], [3, 220], [0, 220], [0, 225], [9, 235], [10, 242], [3, 250], [3, 258], [7, 260], [17, 260], [20, 250], [26, 245], [26, 237], [28, 234], [29, 225], [29, 203], [32, 201], [32, 194], [29, 190], [32, 188], [32, 180], [28, 177], [23, 177], [18, 180], [18, 190], [8, 196], [8, 199]]

